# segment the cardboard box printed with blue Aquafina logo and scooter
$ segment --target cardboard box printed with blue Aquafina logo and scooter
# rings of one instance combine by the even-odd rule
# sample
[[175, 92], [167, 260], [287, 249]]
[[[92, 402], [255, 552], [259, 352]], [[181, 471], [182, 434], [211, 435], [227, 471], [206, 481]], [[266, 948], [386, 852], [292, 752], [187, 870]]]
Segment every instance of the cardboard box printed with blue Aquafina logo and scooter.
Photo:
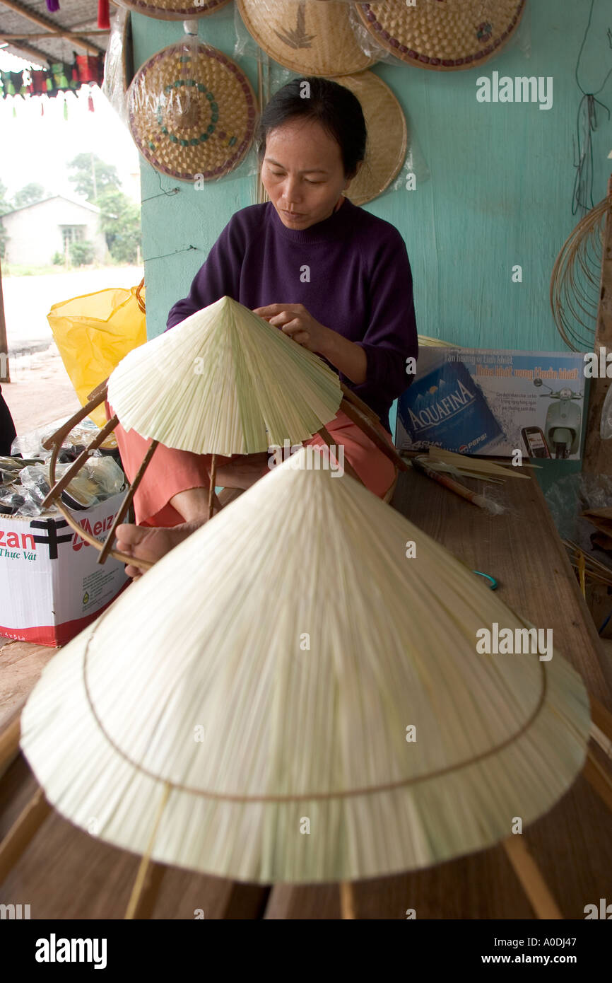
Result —
[[398, 401], [396, 444], [577, 460], [584, 384], [580, 353], [421, 346], [415, 381]]

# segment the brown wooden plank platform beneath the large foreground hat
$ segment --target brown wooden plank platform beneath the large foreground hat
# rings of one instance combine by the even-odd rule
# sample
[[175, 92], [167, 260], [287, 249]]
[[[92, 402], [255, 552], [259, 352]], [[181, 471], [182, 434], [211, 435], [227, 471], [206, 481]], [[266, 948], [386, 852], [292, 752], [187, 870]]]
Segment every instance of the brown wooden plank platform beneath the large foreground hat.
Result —
[[[393, 500], [423, 531], [473, 569], [495, 577], [499, 594], [536, 626], [552, 627], [556, 652], [612, 710], [612, 665], [604, 653], [565, 550], [535, 480], [497, 486], [508, 506], [489, 516], [409, 472]], [[35, 791], [20, 755], [0, 781], [0, 837]], [[566, 918], [610, 896], [612, 813], [581, 776], [557, 806], [524, 834]], [[52, 812], [0, 885], [0, 902], [29, 903], [32, 918], [122, 918], [139, 858], [75, 829]], [[323, 918], [340, 916], [336, 885], [264, 889], [157, 868], [152, 918]], [[354, 886], [357, 917], [532, 918], [501, 846], [429, 870]]]

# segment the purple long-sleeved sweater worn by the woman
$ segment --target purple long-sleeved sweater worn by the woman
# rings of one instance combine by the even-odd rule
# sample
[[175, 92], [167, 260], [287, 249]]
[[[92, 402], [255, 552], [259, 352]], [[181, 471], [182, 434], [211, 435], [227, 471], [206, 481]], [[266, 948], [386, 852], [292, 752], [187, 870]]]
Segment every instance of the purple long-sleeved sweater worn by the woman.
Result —
[[418, 354], [411, 266], [394, 225], [348, 199], [307, 229], [286, 228], [271, 202], [241, 208], [195, 274], [189, 297], [172, 307], [168, 328], [226, 295], [250, 310], [304, 304], [321, 324], [361, 345], [365, 382], [340, 377], [388, 430], [391, 404], [414, 378], [406, 359]]

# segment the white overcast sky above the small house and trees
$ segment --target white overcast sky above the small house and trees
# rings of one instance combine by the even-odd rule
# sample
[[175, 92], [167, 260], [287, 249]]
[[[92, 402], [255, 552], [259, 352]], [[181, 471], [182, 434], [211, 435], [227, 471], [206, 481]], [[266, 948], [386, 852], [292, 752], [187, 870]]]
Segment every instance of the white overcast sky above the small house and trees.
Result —
[[[28, 68], [28, 62], [0, 50], [0, 69], [19, 72], [24, 68]], [[89, 92], [95, 107], [92, 113], [87, 109]], [[64, 98], [68, 102], [68, 120], [64, 119]], [[75, 198], [67, 162], [78, 153], [93, 152], [115, 165], [125, 193], [139, 200], [139, 151], [129, 130], [97, 87], [86, 86], [76, 94], [59, 94], [54, 99], [38, 95], [0, 98], [0, 145], [0, 180], [7, 186], [9, 196], [35, 181], [51, 194]]]

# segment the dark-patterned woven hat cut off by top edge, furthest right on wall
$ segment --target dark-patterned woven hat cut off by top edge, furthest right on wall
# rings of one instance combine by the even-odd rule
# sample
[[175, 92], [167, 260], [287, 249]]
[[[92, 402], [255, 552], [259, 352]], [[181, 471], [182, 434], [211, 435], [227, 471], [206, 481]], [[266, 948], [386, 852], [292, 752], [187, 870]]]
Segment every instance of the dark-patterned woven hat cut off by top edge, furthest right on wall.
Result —
[[356, 4], [367, 30], [391, 54], [418, 68], [475, 68], [508, 42], [526, 0], [398, 0]]

